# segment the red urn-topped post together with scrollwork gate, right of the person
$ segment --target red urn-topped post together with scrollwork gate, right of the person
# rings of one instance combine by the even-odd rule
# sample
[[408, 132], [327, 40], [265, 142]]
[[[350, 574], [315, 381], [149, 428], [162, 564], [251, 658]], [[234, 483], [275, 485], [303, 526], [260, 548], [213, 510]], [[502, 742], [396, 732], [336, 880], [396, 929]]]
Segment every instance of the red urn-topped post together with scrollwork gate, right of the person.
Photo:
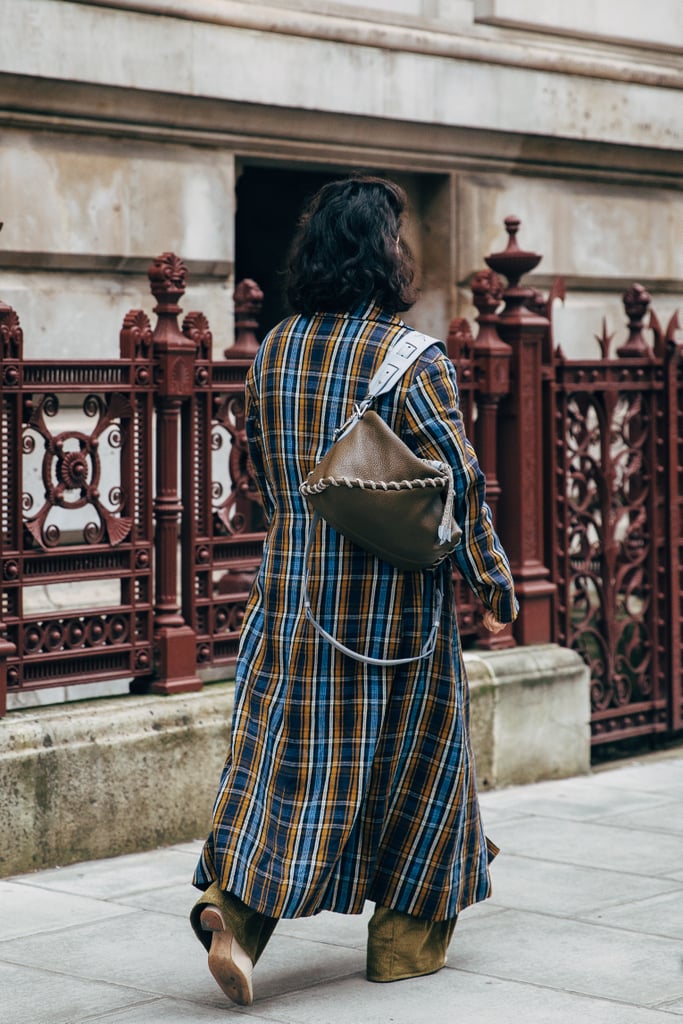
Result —
[[[506, 250], [486, 258], [508, 280], [505, 305], [485, 323], [489, 370], [502, 356], [496, 334], [511, 364], [509, 386], [501, 372], [496, 437], [498, 525], [521, 606], [515, 638], [552, 639], [587, 662], [594, 745], [676, 732], [683, 727], [678, 317], [663, 331], [651, 313], [648, 344], [650, 296], [634, 285], [624, 296], [625, 344], [610, 355], [603, 326], [600, 357], [568, 359], [552, 331], [563, 284], [544, 297], [520, 283], [541, 256], [519, 248], [517, 218], [505, 223]], [[475, 349], [480, 338], [481, 331]], [[481, 359], [477, 374], [480, 418], [490, 400], [481, 395]], [[480, 456], [490, 475], [485, 445]]]

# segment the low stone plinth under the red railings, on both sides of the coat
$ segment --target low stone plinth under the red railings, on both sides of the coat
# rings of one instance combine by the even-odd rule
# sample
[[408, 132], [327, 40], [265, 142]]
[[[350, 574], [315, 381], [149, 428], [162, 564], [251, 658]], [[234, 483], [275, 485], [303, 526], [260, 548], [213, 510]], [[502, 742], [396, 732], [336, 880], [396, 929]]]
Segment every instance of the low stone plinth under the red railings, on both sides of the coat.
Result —
[[[482, 787], [588, 771], [588, 672], [554, 645], [466, 654]], [[232, 685], [0, 720], [0, 877], [203, 837]]]

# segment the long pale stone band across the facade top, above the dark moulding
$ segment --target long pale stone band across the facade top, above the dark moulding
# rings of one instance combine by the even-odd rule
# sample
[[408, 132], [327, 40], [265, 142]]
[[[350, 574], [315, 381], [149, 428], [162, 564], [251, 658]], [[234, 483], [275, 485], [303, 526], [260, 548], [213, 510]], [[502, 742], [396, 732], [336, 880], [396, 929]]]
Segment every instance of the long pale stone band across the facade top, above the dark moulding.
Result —
[[445, 34], [416, 41], [407, 30], [371, 35], [367, 22], [307, 26], [303, 16], [258, 32], [272, 17], [250, 28], [248, 7], [213, 24], [209, 12], [193, 22], [51, 0], [3, 0], [0, 14], [8, 73], [605, 142], [681, 142], [675, 69], [655, 67], [661, 83], [650, 87], [642, 61], [622, 75], [618, 59], [572, 61], [575, 46], [537, 53], [536, 40], [500, 33], [485, 46], [476, 34], [469, 45]]

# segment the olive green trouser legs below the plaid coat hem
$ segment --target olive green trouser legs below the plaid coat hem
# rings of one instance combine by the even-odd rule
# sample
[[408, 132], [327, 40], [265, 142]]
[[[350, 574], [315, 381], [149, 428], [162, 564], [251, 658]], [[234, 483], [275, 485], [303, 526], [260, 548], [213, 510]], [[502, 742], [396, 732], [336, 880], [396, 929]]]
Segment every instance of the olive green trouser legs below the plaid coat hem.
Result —
[[[278, 918], [252, 910], [214, 883], [202, 894], [189, 915], [195, 934], [207, 950], [211, 946], [211, 932], [205, 932], [200, 925], [205, 906], [219, 908], [225, 924], [256, 964], [274, 931]], [[368, 925], [368, 980], [400, 981], [440, 970], [445, 964], [456, 920], [424, 921], [385, 906], [376, 907]]]

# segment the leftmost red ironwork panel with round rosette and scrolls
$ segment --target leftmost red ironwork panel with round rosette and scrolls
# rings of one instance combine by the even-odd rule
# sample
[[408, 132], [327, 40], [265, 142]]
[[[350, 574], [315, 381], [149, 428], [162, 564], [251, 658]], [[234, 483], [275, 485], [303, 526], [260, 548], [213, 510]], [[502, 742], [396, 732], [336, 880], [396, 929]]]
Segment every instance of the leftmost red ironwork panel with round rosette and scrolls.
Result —
[[2, 623], [9, 692], [148, 674], [150, 324], [129, 314], [116, 362], [23, 358], [0, 310]]

